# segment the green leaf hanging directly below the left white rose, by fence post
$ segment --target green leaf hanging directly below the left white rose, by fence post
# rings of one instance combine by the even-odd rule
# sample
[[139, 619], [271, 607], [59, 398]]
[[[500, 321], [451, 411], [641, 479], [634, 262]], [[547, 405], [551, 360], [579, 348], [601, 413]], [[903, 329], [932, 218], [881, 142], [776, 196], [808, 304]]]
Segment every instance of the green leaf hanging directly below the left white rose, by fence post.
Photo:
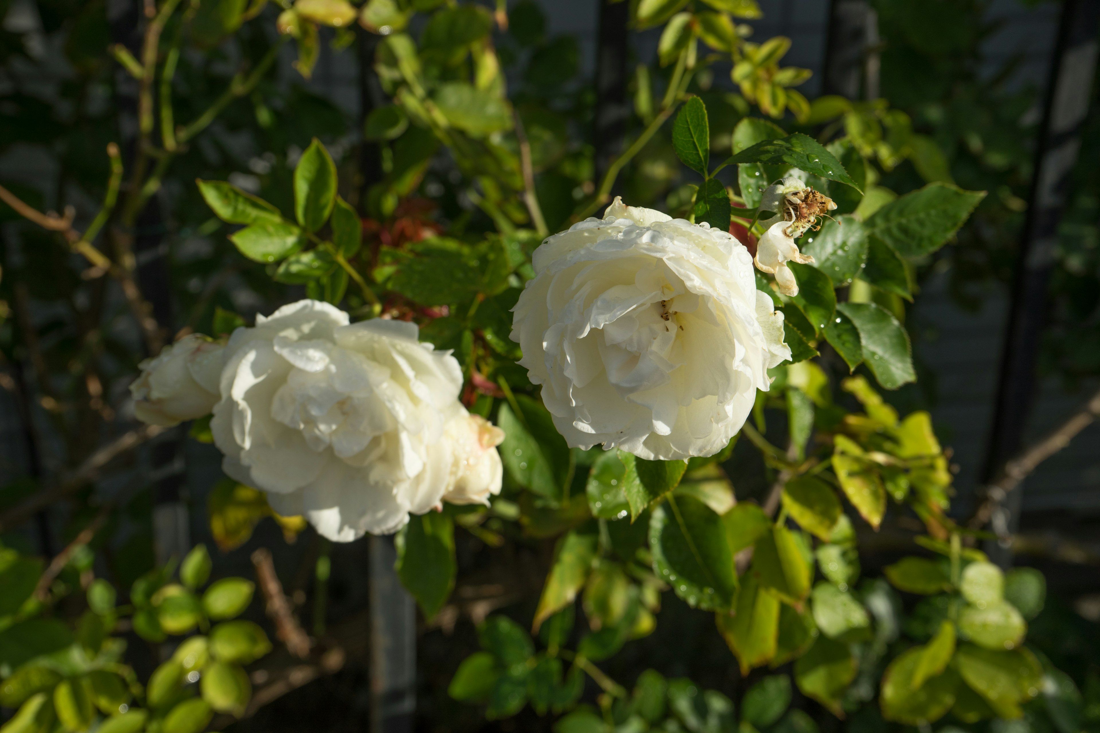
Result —
[[397, 577], [431, 621], [454, 588], [454, 521], [443, 512], [410, 517], [394, 544]]

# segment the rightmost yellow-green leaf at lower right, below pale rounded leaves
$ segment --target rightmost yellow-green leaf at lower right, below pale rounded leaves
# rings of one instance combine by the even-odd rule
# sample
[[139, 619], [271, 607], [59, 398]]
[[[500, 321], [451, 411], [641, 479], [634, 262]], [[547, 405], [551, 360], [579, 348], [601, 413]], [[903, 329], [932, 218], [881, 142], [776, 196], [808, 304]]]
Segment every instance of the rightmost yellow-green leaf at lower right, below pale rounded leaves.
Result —
[[1000, 718], [1020, 718], [1020, 703], [1036, 697], [1043, 686], [1043, 667], [1026, 648], [994, 652], [963, 644], [955, 653], [963, 680]]

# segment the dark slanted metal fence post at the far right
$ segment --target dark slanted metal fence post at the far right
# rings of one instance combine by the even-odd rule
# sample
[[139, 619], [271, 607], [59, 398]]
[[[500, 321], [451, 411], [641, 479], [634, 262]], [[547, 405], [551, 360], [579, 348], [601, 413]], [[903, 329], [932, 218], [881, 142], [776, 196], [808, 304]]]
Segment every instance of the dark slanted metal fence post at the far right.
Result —
[[[992, 480], [1023, 446], [1034, 403], [1047, 284], [1067, 187], [1081, 146], [1081, 124], [1091, 101], [1098, 23], [1100, 0], [1064, 0], [1036, 138], [1027, 214], [1015, 258], [993, 425], [982, 471], [985, 482]], [[994, 504], [990, 521], [1002, 540], [990, 543], [988, 552], [1002, 566], [1012, 562], [1008, 537], [1019, 525], [1022, 491], [1021, 484], [1007, 496], [990, 496]]]

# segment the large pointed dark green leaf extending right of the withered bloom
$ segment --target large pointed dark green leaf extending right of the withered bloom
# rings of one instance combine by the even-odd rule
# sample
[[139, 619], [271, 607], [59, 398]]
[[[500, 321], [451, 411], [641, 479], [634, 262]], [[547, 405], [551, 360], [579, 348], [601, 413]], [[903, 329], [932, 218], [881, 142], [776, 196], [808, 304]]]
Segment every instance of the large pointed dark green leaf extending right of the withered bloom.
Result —
[[928, 184], [876, 211], [867, 229], [903, 257], [923, 257], [944, 246], [985, 197], [985, 191]]

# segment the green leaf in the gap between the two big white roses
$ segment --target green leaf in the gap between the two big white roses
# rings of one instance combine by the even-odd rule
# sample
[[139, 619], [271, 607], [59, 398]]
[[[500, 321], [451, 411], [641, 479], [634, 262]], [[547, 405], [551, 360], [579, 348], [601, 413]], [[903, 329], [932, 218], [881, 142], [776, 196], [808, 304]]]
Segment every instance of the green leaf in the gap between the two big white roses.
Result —
[[569, 446], [541, 402], [525, 396], [516, 400], [524, 411], [521, 419], [508, 404], [502, 404], [497, 414], [497, 425], [505, 436], [501, 444], [504, 467], [516, 484], [547, 499], [560, 499], [569, 468]]

